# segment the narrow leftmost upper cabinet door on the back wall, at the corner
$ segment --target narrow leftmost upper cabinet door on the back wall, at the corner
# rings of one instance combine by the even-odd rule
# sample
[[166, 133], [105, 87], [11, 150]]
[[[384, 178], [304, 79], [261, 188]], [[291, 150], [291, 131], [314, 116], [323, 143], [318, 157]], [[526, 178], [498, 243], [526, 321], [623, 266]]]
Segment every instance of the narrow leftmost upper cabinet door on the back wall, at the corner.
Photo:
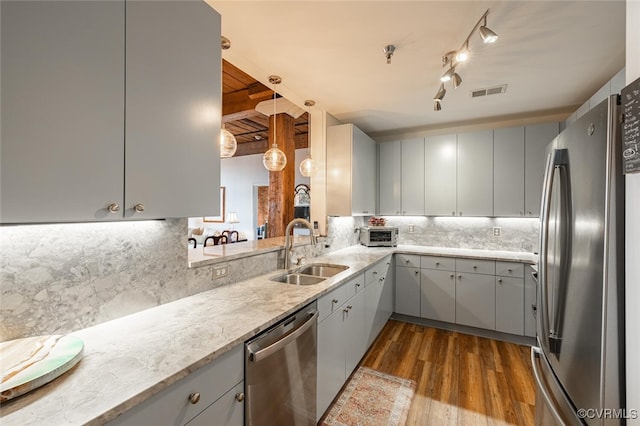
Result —
[[401, 185], [401, 141], [385, 142], [378, 145], [379, 177], [380, 177], [380, 210], [381, 215], [400, 214]]

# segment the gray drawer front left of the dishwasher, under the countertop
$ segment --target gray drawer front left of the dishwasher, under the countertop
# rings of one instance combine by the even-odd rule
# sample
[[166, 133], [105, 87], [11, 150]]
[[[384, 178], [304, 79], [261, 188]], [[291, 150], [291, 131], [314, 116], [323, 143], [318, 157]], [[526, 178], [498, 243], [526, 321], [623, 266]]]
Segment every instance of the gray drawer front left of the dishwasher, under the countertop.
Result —
[[[115, 418], [109, 425], [185, 424], [242, 382], [243, 378], [244, 345], [238, 345]], [[196, 403], [189, 401], [192, 394], [199, 394]]]

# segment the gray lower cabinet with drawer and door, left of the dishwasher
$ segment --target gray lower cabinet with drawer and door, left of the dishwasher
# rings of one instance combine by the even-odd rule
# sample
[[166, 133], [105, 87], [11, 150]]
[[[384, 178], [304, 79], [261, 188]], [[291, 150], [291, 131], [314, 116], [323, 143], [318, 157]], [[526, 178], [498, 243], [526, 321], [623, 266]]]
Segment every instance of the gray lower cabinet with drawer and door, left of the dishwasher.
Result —
[[238, 345], [108, 425], [241, 426], [243, 392], [244, 345]]

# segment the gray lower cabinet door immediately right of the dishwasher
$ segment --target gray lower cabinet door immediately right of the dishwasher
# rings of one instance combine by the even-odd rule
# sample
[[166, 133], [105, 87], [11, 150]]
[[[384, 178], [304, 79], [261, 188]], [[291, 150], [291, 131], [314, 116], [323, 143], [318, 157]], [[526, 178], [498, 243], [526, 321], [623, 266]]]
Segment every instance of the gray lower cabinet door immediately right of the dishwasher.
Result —
[[318, 324], [317, 419], [329, 407], [344, 384], [345, 351], [343, 312], [338, 310]]

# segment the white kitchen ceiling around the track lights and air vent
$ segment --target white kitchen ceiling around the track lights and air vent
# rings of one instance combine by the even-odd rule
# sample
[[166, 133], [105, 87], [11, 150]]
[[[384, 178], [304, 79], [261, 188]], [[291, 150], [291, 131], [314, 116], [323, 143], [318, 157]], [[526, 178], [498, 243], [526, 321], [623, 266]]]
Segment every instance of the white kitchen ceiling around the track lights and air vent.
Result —
[[[615, 1], [216, 1], [223, 57], [293, 102], [317, 106], [370, 135], [573, 112], [624, 67], [624, 0]], [[486, 9], [498, 33], [476, 33], [462, 85], [446, 84], [433, 111], [444, 53], [458, 49]], [[382, 49], [396, 46], [390, 65]], [[507, 92], [470, 91], [507, 84]], [[304, 107], [303, 107], [304, 108]]]

